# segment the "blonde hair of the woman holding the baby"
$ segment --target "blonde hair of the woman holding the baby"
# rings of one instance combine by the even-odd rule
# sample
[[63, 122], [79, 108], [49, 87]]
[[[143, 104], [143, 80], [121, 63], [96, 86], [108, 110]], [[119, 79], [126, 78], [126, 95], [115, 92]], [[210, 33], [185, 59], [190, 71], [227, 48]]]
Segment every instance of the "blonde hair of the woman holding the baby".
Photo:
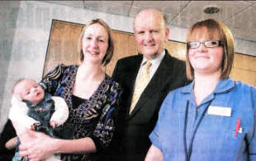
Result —
[[107, 31], [108, 47], [107, 47], [107, 52], [106, 52], [105, 56], [102, 59], [103, 66], [106, 66], [111, 61], [113, 53], [114, 53], [114, 40], [112, 38], [111, 28], [107, 25], [107, 23], [105, 21], [103, 21], [102, 19], [99, 19], [99, 18], [95, 19], [95, 20], [92, 20], [92, 21], [88, 21], [88, 24], [83, 27], [83, 31], [80, 34], [79, 44], [78, 44], [78, 53], [79, 53], [79, 57], [80, 57], [80, 62], [83, 62], [83, 59], [84, 59], [84, 56], [83, 56], [83, 35], [84, 35], [84, 32], [86, 31], [88, 26], [91, 26], [93, 24], [100, 24]]

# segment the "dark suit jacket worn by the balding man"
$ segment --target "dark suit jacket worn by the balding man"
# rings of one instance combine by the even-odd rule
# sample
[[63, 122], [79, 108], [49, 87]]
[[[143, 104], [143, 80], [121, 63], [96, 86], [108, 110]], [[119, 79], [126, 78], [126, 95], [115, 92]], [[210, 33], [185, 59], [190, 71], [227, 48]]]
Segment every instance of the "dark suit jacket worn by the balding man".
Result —
[[134, 110], [129, 115], [135, 78], [143, 59], [141, 54], [119, 59], [112, 78], [124, 88], [118, 111], [117, 133], [111, 151], [116, 160], [144, 160], [151, 142], [149, 134], [158, 120], [159, 108], [168, 92], [186, 83], [186, 68], [182, 60], [168, 51], [154, 73]]

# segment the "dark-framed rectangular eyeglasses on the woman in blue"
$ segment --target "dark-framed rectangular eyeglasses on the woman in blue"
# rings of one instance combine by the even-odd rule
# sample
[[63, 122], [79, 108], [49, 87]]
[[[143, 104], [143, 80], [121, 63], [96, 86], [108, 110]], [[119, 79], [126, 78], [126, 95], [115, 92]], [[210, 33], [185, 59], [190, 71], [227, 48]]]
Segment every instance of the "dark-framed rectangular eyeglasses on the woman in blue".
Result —
[[192, 42], [187, 42], [187, 49], [197, 49], [201, 44], [204, 44], [206, 48], [215, 48], [218, 46], [222, 46], [222, 41], [221, 40], [207, 40], [205, 42], [197, 42], [197, 41], [192, 41]]

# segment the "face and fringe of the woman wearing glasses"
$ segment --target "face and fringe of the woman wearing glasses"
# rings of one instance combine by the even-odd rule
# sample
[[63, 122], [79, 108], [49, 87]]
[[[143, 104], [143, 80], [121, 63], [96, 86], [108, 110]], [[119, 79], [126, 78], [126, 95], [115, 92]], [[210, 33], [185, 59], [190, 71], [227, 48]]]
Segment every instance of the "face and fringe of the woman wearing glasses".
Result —
[[[221, 63], [223, 57], [223, 47], [219, 42], [220, 36], [218, 31], [208, 34], [208, 29], [202, 26], [192, 32], [191, 39], [188, 43], [188, 59], [193, 67], [193, 74], [213, 74], [221, 73]], [[220, 41], [221, 42], [221, 41]], [[197, 44], [197, 45], [195, 45]], [[210, 45], [209, 45], [210, 44]], [[230, 64], [232, 66], [232, 64]]]

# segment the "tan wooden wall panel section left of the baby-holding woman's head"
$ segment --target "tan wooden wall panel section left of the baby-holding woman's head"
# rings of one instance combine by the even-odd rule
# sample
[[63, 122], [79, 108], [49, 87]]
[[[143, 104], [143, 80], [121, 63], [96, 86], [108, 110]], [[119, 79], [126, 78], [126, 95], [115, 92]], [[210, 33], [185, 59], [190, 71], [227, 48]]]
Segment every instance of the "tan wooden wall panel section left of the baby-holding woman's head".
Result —
[[45, 58], [44, 76], [58, 64], [78, 64], [78, 38], [83, 25], [53, 21]]

